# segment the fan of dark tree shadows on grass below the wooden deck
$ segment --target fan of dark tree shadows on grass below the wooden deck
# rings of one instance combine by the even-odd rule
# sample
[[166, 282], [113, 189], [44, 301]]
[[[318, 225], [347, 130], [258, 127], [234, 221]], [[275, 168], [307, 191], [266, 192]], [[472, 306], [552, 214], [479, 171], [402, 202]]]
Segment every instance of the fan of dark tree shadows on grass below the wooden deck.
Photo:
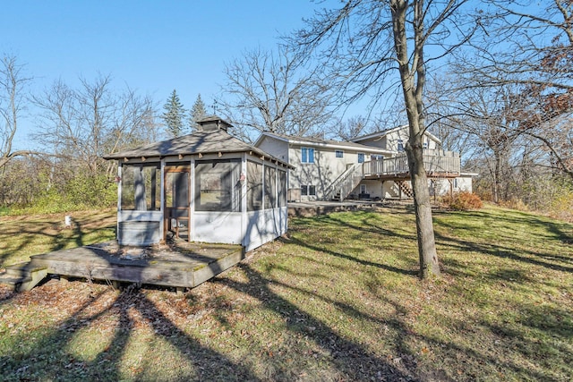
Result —
[[[99, 293], [85, 302], [58, 327], [39, 333], [22, 333], [13, 338], [14, 344], [27, 345], [23, 350], [13, 349], [11, 355], [0, 358], [4, 380], [259, 380], [248, 367], [229, 360], [224, 354], [187, 335], [138, 289], [127, 288], [107, 304], [107, 308], [88, 313], [90, 306], [103, 294]], [[159, 375], [152, 365], [146, 367], [145, 362], [139, 369], [132, 370], [132, 377], [125, 375], [126, 366], [122, 362], [136, 327], [134, 312], [150, 327], [156, 339], [170, 344], [190, 364], [192, 375], [186, 371], [177, 373], [179, 365], [175, 364], [167, 365], [167, 369], [174, 370], [173, 375]], [[69, 350], [74, 336], [83, 329], [90, 329], [91, 323], [109, 315], [115, 318], [116, 325], [107, 346], [92, 361], [78, 360]], [[141, 326], [141, 323], [137, 326]], [[38, 337], [31, 345], [30, 335]], [[150, 347], [145, 351], [145, 356], [144, 361], [147, 361], [147, 358], [161, 354]]]

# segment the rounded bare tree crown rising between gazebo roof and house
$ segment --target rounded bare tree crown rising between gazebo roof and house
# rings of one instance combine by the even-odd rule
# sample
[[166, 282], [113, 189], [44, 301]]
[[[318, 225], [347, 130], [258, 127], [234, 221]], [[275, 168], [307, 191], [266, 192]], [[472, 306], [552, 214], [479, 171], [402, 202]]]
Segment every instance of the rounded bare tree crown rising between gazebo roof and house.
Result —
[[230, 98], [222, 102], [227, 118], [249, 132], [304, 136], [321, 132], [332, 115], [330, 91], [318, 72], [307, 68], [286, 48], [277, 53], [247, 51], [227, 64]]

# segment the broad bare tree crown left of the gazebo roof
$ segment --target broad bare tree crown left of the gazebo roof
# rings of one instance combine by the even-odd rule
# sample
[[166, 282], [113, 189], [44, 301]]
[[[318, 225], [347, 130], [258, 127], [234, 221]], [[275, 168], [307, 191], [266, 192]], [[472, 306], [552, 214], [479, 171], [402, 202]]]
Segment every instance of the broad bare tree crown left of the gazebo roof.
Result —
[[59, 157], [72, 159], [90, 174], [111, 174], [101, 157], [156, 137], [156, 105], [132, 89], [115, 93], [111, 78], [81, 79], [79, 89], [56, 81], [34, 98], [43, 113], [37, 137]]

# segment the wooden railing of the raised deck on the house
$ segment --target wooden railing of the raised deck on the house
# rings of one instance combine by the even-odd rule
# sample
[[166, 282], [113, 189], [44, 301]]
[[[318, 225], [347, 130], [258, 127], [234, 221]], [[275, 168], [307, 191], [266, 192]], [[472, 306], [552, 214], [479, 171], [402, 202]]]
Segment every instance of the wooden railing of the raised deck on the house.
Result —
[[[440, 151], [440, 154], [442, 155], [423, 155], [423, 167], [426, 169], [426, 173], [434, 175], [459, 174], [461, 162], [458, 153]], [[406, 174], [409, 171], [406, 155], [375, 159], [363, 163], [364, 175]]]

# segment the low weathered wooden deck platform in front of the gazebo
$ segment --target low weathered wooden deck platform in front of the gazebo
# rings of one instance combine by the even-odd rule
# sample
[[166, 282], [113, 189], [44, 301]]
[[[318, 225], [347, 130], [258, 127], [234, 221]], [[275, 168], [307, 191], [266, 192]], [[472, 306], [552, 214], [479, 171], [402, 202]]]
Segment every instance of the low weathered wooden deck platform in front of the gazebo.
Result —
[[120, 248], [106, 242], [30, 256], [29, 267], [48, 275], [110, 282], [192, 288], [244, 259], [243, 247], [176, 242], [146, 248]]

